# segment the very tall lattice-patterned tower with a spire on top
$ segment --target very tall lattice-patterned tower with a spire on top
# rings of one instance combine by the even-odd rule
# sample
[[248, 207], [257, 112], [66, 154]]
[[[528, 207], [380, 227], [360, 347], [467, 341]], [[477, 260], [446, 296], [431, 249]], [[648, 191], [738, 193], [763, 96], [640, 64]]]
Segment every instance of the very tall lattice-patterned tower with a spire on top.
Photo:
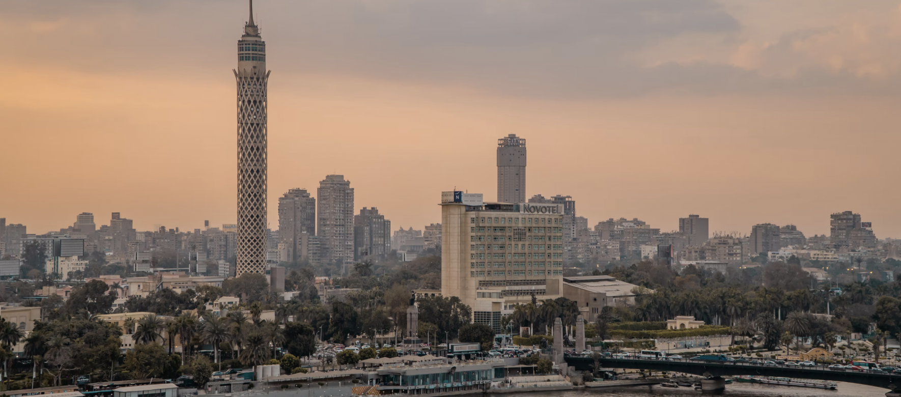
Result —
[[235, 275], [266, 272], [267, 107], [266, 42], [253, 22], [253, 1], [238, 41], [238, 241]]

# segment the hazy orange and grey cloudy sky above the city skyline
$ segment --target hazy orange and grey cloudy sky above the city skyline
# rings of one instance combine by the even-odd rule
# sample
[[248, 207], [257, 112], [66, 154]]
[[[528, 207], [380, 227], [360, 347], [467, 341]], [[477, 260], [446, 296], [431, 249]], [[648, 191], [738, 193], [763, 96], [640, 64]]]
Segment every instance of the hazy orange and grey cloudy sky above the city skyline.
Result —
[[[236, 221], [232, 69], [245, 0], [0, 0], [0, 217], [93, 212], [138, 230]], [[589, 226], [757, 223], [901, 238], [901, 0], [257, 0], [268, 222], [340, 174], [392, 226], [441, 191], [496, 199], [496, 140], [526, 194]]]

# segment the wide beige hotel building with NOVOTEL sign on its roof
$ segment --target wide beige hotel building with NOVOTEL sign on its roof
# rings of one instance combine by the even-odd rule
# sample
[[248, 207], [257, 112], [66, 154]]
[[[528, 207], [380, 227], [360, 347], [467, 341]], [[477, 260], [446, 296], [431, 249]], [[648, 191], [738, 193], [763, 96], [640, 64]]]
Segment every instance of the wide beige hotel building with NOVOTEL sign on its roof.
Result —
[[502, 333], [503, 311], [559, 297], [562, 276], [563, 205], [441, 193], [441, 294], [460, 297], [475, 322]]

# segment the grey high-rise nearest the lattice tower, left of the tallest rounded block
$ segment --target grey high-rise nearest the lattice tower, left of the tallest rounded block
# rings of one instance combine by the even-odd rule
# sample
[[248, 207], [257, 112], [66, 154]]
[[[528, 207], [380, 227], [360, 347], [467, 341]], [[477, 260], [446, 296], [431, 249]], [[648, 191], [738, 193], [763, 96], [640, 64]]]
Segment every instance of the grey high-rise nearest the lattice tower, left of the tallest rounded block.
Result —
[[281, 260], [296, 262], [305, 256], [302, 233], [316, 235], [316, 199], [306, 189], [290, 189], [278, 198], [278, 242], [284, 244]]

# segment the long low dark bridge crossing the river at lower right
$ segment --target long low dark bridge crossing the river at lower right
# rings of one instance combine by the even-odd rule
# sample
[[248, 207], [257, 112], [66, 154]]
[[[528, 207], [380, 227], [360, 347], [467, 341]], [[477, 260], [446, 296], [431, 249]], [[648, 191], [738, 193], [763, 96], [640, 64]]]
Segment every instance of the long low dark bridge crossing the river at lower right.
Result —
[[[565, 356], [567, 365], [578, 371], [594, 371], [595, 359], [587, 356]], [[673, 371], [702, 376], [757, 375], [819, 379], [833, 382], [860, 383], [894, 389], [901, 387], [901, 374], [827, 366], [764, 365], [734, 361], [703, 361], [686, 358], [640, 358], [636, 356], [599, 358], [602, 368], [628, 368], [651, 371]]]

